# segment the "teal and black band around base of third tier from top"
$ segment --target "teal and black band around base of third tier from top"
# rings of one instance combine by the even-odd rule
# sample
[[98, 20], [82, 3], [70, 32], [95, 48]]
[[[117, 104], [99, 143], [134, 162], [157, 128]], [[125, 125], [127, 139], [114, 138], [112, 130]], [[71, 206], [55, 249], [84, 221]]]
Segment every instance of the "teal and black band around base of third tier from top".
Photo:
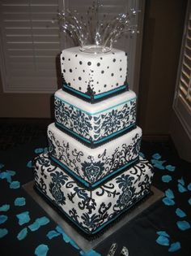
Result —
[[61, 163], [57, 158], [54, 158], [53, 155], [49, 155], [49, 157], [53, 160], [53, 162], [57, 163], [60, 165], [62, 168], [64, 168], [68, 173], [70, 173], [71, 176], [74, 176], [76, 180], [79, 180], [82, 184], [84, 184], [87, 188], [95, 188], [97, 185], [100, 183], [103, 183], [105, 180], [108, 180], [108, 178], [114, 176], [117, 174], [117, 172], [124, 170], [126, 167], [129, 167], [132, 163], [135, 163], [138, 161], [138, 157], [135, 158], [134, 160], [130, 161], [129, 163], [125, 164], [124, 166], [118, 168], [116, 171], [112, 171], [112, 173], [108, 174], [107, 176], [104, 176], [101, 180], [97, 181], [94, 184], [90, 184], [88, 181], [83, 180], [80, 176], [78, 176], [74, 171], [71, 171], [69, 167], [66, 167], [64, 163]]

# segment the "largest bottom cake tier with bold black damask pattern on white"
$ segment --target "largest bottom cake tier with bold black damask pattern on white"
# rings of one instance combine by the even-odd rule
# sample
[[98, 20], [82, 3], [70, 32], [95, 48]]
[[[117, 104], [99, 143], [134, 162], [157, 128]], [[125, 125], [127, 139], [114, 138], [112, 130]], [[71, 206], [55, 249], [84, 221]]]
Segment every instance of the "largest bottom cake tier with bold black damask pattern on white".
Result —
[[152, 176], [151, 164], [140, 158], [139, 163], [112, 180], [87, 190], [54, 165], [49, 154], [40, 154], [35, 161], [36, 189], [88, 236], [103, 231], [146, 197]]

